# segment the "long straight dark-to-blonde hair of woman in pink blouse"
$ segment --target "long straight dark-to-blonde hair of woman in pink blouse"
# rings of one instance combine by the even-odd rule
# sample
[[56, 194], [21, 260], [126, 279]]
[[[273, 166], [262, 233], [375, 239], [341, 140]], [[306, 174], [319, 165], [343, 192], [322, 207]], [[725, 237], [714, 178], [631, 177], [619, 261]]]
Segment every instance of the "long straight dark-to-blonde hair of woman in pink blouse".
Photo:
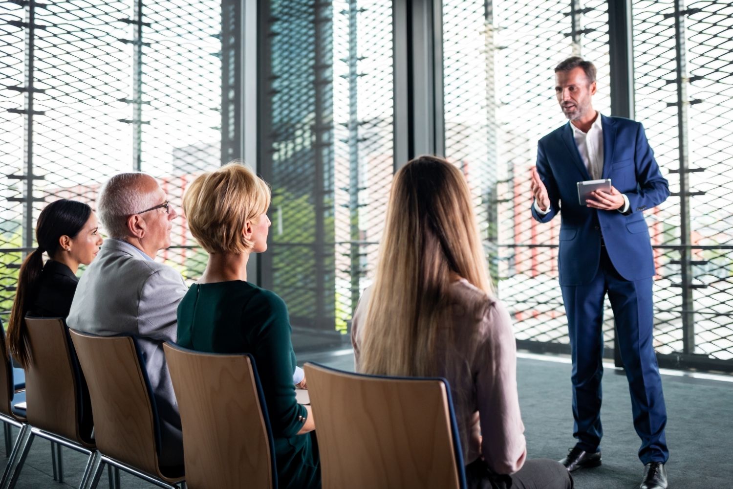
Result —
[[360, 325], [362, 372], [439, 373], [436, 346], [451, 313], [454, 275], [493, 295], [463, 174], [442, 158], [420, 156], [399, 169], [392, 183], [375, 281]]

